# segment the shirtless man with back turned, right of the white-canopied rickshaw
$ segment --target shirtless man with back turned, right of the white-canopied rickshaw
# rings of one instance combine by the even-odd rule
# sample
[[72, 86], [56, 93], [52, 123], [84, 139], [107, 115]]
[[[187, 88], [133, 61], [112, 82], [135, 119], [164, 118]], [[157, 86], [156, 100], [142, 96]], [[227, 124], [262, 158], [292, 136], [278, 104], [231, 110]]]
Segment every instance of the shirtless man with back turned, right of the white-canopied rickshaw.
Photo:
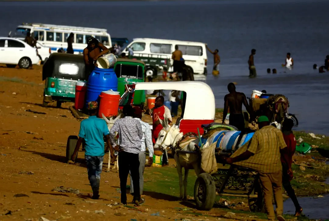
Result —
[[242, 103], [246, 107], [249, 114], [252, 110], [250, 109], [246, 96], [243, 93], [236, 92], [234, 83], [229, 83], [227, 89], [230, 92], [224, 97], [224, 113], [223, 121], [224, 123], [228, 107], [230, 107], [230, 125], [237, 127], [239, 130], [244, 129], [244, 117], [242, 114]]

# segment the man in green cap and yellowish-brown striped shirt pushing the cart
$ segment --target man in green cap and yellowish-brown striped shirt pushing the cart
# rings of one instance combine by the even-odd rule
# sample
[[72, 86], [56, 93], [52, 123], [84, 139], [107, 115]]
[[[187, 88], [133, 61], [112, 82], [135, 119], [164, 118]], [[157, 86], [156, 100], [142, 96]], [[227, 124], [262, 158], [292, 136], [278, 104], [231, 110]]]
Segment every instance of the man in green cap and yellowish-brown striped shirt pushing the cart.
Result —
[[287, 151], [287, 145], [282, 132], [276, 127], [270, 126], [266, 116], [259, 117], [258, 126], [260, 130], [255, 132], [249, 144], [240, 147], [226, 161], [229, 164], [252, 168], [259, 173], [268, 220], [275, 220], [272, 205], [273, 192], [277, 218], [279, 221], [284, 221], [285, 219], [282, 216], [282, 165], [280, 157], [283, 156], [284, 161], [288, 162], [287, 157], [284, 155]]

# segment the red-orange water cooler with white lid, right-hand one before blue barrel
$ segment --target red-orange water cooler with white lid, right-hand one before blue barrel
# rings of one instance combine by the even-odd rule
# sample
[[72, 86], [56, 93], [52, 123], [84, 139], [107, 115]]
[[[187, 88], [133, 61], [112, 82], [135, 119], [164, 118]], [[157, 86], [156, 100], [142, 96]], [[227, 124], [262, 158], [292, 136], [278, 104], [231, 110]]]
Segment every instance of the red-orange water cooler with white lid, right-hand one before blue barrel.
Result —
[[120, 94], [118, 91], [108, 90], [103, 91], [100, 95], [100, 104], [98, 117], [102, 117], [102, 113], [105, 117], [116, 116], [119, 109]]

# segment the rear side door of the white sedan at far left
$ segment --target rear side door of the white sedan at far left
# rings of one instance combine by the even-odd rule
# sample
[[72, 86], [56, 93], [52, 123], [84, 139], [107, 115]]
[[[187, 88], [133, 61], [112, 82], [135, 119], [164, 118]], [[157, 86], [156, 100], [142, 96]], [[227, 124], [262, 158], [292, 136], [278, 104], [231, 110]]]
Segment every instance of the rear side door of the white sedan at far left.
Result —
[[6, 49], [8, 64], [18, 64], [19, 59], [27, 56], [25, 45], [14, 39], [8, 39], [8, 48]]

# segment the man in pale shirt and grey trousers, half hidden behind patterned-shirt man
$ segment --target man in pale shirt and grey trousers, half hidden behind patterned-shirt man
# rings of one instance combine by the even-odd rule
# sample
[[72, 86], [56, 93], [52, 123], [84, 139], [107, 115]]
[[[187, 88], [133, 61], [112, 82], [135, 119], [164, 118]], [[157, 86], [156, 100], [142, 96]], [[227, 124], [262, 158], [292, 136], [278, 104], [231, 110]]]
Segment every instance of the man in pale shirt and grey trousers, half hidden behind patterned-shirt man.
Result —
[[[140, 107], [134, 107], [134, 119], [137, 119], [143, 130], [143, 137], [141, 139], [141, 147], [139, 152], [139, 189], [140, 194], [143, 194], [143, 186], [144, 186], [144, 168], [145, 168], [145, 159], [146, 159], [146, 147], [149, 152], [148, 164], [152, 165], [153, 162], [153, 143], [152, 143], [152, 133], [150, 124], [142, 121], [142, 110]], [[130, 179], [130, 193], [134, 194], [134, 184]], [[143, 200], [143, 199], [142, 199]]]

